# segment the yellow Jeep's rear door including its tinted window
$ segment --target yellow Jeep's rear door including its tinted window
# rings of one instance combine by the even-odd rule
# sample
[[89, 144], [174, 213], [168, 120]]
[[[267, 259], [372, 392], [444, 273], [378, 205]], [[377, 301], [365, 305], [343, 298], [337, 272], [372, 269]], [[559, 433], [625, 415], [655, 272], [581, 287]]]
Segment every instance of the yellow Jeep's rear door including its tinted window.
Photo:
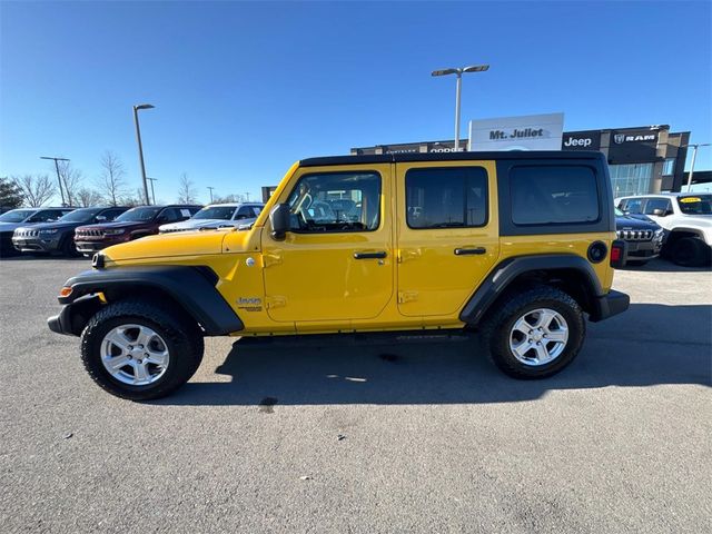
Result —
[[457, 315], [500, 253], [493, 161], [396, 165], [398, 309]]

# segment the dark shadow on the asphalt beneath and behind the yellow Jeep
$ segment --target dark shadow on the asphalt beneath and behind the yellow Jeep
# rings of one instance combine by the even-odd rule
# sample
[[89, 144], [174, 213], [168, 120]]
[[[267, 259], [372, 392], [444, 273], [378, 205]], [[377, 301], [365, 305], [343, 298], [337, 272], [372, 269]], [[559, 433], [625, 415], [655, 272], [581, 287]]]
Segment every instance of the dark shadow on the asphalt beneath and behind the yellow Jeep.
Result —
[[[475, 339], [399, 335], [244, 338], [216, 373], [229, 382], [188, 383], [164, 405], [478, 404], [541, 398], [555, 389], [659, 384], [711, 385], [712, 306], [635, 304], [589, 324], [578, 358], [543, 380], [512, 379]], [[428, 333], [429, 336], [429, 333]], [[264, 408], [267, 406], [267, 408]]]

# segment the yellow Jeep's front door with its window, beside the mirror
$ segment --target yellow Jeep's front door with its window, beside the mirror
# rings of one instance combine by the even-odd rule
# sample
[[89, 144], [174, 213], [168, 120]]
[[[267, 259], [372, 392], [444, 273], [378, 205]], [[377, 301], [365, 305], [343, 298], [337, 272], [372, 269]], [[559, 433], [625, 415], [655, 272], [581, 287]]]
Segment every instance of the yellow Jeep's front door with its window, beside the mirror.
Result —
[[394, 286], [390, 165], [300, 168], [291, 181], [279, 199], [291, 230], [263, 234], [269, 317], [306, 330], [378, 316]]

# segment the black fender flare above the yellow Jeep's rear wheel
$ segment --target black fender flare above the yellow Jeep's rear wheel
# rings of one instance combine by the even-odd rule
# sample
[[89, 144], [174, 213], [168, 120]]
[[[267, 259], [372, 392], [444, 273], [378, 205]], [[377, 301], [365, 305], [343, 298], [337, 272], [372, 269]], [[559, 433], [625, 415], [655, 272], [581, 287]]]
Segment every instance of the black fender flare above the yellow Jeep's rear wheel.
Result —
[[[479, 284], [477, 290], [469, 297], [459, 313], [459, 320], [471, 326], [476, 326], [487, 309], [494, 304], [503, 291], [518, 276], [525, 273], [573, 269], [582, 275], [585, 280], [586, 294], [591, 298], [593, 308], [597, 308], [599, 300], [604, 291], [599, 277], [591, 264], [583, 257], [574, 254], [545, 254], [536, 256], [518, 256], [507, 258], [500, 263], [487, 277]], [[590, 310], [592, 316], [597, 316], [597, 310]]]

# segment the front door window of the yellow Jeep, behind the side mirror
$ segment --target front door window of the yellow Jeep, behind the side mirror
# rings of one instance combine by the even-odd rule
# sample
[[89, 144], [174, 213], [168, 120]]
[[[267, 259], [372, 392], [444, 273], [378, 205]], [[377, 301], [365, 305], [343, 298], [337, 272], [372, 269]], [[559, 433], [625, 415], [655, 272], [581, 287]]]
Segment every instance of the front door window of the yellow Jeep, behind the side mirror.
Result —
[[305, 175], [288, 202], [293, 231], [372, 231], [380, 224], [380, 175]]

